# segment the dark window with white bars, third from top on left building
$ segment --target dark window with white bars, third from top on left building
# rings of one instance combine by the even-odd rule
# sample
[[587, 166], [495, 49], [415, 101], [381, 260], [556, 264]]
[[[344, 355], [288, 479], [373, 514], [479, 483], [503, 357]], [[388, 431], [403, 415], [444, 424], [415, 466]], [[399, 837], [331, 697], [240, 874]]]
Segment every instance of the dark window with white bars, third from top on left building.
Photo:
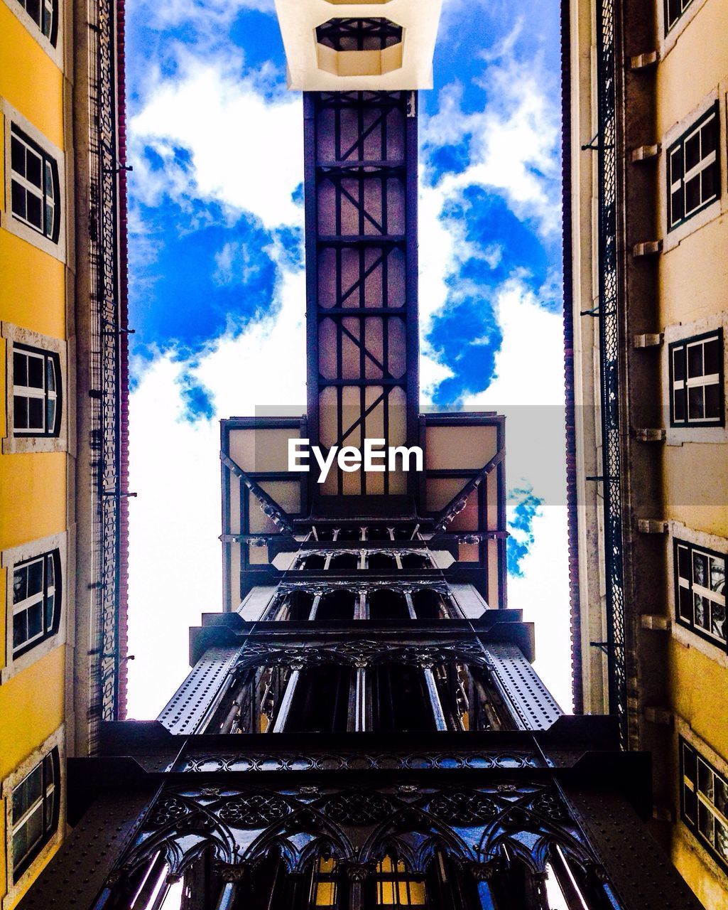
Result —
[[61, 423], [60, 359], [13, 345], [13, 434], [57, 436]]

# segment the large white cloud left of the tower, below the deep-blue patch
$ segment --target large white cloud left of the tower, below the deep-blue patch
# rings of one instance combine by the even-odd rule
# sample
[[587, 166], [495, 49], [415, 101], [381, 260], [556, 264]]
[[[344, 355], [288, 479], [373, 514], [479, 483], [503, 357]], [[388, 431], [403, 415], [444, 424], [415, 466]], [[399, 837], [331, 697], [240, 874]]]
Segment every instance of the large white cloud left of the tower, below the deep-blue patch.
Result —
[[[301, 412], [303, 300], [303, 274], [284, 271], [274, 312], [237, 337], [216, 339], [194, 363], [160, 354], [132, 392], [130, 483], [138, 498], [129, 526], [131, 717], [159, 713], [189, 671], [189, 626], [202, 612], [221, 609], [218, 420], [263, 404]], [[211, 420], [184, 420], [186, 375], [211, 391]]]

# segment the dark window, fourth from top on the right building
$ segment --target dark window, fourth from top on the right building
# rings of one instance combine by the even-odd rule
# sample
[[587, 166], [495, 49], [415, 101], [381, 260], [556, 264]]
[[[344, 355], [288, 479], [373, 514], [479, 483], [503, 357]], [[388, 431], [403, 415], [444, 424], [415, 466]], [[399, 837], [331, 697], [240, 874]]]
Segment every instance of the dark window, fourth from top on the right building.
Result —
[[725, 554], [675, 541], [677, 621], [725, 647]]

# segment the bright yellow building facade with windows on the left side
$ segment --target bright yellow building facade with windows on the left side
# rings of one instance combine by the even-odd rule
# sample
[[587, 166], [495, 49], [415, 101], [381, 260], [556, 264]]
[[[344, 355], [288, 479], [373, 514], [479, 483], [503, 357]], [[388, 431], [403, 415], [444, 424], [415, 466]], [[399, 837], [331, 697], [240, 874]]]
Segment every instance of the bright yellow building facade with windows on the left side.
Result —
[[[90, 230], [101, 220], [96, 125], [118, 119], [115, 88], [111, 105], [99, 91], [101, 45], [118, 26], [110, 9], [104, 23], [103, 4], [0, 2], [2, 910], [17, 904], [63, 840], [65, 760], [93, 751], [98, 718], [119, 713], [118, 699], [109, 708], [101, 694], [123, 636], [107, 655], [99, 428], [108, 389], [95, 361], [104, 328], [118, 339], [124, 325], [102, 325], [100, 251]], [[113, 109], [99, 119], [104, 104]], [[118, 230], [114, 244], [118, 267]], [[125, 317], [119, 287], [112, 296]], [[116, 340], [115, 350], [121, 388], [125, 347]], [[123, 392], [112, 397], [120, 413]], [[125, 475], [123, 463], [115, 467], [118, 517]], [[123, 517], [115, 531], [118, 561]], [[118, 611], [118, 585], [114, 596]]]

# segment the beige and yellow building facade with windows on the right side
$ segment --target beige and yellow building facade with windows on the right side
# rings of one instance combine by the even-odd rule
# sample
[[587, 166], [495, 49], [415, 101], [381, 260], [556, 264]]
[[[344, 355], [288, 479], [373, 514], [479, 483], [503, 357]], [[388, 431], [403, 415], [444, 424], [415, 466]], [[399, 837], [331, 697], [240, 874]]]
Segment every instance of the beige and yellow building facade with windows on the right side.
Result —
[[726, 26], [726, 0], [563, 13], [574, 692], [652, 753], [654, 831], [710, 910], [728, 908]]

